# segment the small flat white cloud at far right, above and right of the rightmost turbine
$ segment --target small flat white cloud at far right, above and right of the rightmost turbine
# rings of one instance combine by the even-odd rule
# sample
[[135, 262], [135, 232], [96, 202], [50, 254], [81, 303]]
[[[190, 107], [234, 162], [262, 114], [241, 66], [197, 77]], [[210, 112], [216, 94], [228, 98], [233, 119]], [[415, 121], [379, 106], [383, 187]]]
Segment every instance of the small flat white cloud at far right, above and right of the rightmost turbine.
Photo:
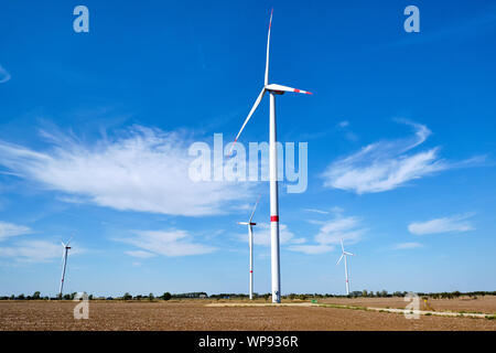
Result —
[[427, 222], [413, 222], [408, 225], [408, 231], [416, 235], [474, 231], [475, 228], [467, 221], [473, 215], [474, 213], [467, 213]]

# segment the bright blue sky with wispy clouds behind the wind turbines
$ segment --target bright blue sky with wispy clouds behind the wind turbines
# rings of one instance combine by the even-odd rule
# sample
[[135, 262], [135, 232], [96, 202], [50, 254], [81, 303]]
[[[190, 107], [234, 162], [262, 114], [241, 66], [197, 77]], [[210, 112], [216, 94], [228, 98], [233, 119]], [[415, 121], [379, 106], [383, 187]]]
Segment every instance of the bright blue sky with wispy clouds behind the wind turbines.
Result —
[[[89, 9], [89, 33], [73, 9]], [[420, 9], [420, 33], [403, 9]], [[267, 182], [195, 184], [194, 141], [225, 143], [263, 83], [278, 138], [308, 142], [280, 189], [282, 291], [494, 290], [496, 7], [492, 1], [4, 1], [0, 295], [270, 291]], [[266, 97], [240, 142], [268, 140]]]

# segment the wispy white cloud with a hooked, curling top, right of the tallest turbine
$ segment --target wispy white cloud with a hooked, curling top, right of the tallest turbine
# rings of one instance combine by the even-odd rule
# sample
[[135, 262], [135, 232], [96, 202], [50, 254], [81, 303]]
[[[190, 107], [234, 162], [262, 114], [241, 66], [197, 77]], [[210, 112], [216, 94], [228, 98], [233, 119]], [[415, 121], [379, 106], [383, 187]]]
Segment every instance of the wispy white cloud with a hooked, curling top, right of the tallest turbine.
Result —
[[323, 173], [324, 186], [357, 194], [382, 192], [443, 170], [484, 161], [485, 157], [476, 157], [462, 162], [448, 162], [439, 157], [439, 147], [412, 152], [427, 140], [431, 131], [424, 125], [408, 120], [399, 122], [413, 127], [414, 136], [370, 143], [356, 153], [338, 159]]

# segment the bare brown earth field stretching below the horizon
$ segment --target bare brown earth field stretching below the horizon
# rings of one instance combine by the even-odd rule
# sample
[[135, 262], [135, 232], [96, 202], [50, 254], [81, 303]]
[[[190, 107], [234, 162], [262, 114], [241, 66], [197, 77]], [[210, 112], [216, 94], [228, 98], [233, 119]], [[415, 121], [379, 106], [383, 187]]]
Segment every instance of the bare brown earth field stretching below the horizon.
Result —
[[[328, 302], [364, 304], [353, 299]], [[326, 302], [327, 300], [323, 300]], [[395, 300], [380, 302], [366, 300], [367, 306], [396, 306]], [[446, 308], [459, 308], [456, 300], [443, 303]], [[460, 308], [490, 309], [492, 300], [482, 300], [477, 306]], [[233, 302], [233, 301], [229, 301]], [[240, 301], [246, 303], [247, 301]], [[320, 301], [321, 302], [321, 301]], [[123, 302], [91, 301], [89, 319], [75, 320], [72, 301], [1, 301], [0, 330], [488, 330], [496, 331], [496, 320], [420, 317], [407, 320], [402, 314], [324, 308], [298, 307], [207, 307], [218, 303], [208, 300]], [[441, 303], [441, 301], [440, 301]], [[405, 308], [399, 301], [398, 307]], [[454, 306], [454, 307], [453, 307]], [[435, 302], [434, 302], [435, 308]], [[435, 308], [436, 309], [436, 308]]]

